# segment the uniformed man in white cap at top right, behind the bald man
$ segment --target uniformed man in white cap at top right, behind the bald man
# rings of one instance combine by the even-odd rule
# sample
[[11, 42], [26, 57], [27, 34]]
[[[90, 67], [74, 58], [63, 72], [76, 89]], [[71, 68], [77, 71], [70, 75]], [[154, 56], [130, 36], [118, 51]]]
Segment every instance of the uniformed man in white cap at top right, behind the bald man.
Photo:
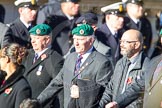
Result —
[[[139, 30], [144, 39], [143, 49], [147, 54], [151, 47], [152, 28], [149, 20], [144, 16], [143, 0], [127, 0], [127, 15], [124, 18], [124, 28]], [[148, 56], [150, 56], [148, 54]]]

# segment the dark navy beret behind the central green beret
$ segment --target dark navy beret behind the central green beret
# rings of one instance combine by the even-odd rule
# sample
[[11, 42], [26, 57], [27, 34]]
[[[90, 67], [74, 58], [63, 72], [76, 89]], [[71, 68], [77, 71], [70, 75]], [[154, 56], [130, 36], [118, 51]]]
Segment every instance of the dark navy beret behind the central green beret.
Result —
[[81, 15], [75, 22], [76, 24], [97, 24], [98, 23], [98, 17], [94, 13], [85, 13]]

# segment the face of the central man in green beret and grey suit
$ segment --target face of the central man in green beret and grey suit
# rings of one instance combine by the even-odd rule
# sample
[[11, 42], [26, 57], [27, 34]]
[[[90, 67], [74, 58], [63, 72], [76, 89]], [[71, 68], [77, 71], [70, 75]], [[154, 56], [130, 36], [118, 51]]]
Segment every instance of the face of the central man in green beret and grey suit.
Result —
[[93, 38], [84, 36], [73, 36], [75, 50], [78, 54], [86, 53], [93, 44]]

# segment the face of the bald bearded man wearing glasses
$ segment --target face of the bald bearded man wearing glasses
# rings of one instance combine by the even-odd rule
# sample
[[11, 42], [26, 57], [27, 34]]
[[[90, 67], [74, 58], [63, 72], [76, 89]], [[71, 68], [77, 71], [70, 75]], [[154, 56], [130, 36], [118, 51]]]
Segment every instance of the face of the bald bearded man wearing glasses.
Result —
[[139, 42], [138, 39], [131, 34], [123, 34], [120, 41], [120, 53], [123, 56], [131, 58], [136, 53], [136, 43]]

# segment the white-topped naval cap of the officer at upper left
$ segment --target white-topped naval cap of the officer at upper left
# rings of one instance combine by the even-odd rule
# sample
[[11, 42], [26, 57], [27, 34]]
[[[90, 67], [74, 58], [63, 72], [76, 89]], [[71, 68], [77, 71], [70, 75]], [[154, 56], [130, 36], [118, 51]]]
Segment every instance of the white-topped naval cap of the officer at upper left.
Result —
[[17, 7], [28, 7], [31, 9], [37, 9], [39, 7], [37, 5], [37, 0], [16, 0], [14, 4]]

